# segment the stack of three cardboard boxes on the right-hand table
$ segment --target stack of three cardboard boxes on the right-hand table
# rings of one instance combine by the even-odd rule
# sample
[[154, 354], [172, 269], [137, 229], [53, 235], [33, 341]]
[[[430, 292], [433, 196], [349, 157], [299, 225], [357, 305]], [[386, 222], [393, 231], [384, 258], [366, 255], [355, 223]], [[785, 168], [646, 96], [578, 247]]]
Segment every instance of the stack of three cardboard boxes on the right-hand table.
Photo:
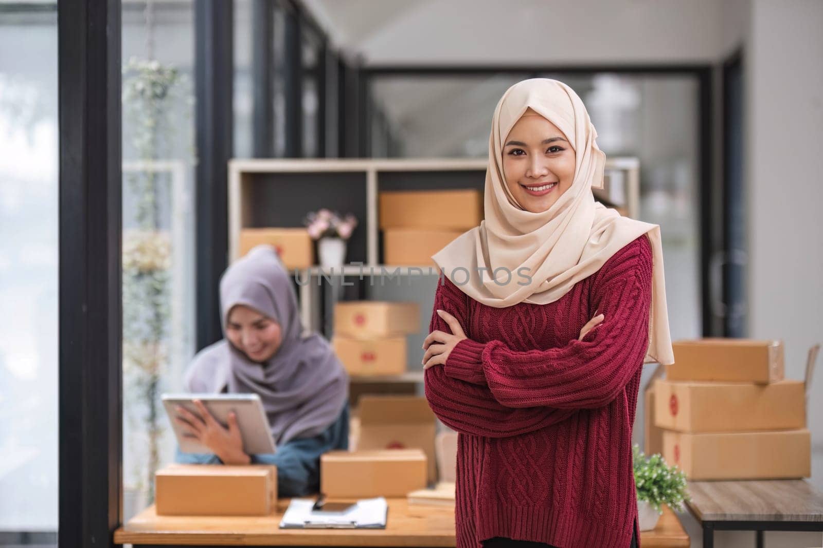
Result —
[[668, 463], [691, 480], [811, 475], [805, 385], [783, 379], [782, 342], [708, 338], [672, 347], [675, 363], [653, 385]]

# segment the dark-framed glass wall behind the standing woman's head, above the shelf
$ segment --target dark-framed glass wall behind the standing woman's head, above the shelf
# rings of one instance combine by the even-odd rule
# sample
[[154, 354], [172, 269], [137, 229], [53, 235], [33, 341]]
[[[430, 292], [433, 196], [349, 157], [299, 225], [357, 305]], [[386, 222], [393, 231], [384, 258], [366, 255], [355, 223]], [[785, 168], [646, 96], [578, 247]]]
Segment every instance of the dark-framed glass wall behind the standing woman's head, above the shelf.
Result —
[[[696, 76], [542, 74], [564, 81], [584, 100], [607, 156], [640, 164], [639, 218], [661, 226], [672, 338], [699, 337], [700, 133]], [[371, 150], [384, 157], [477, 157], [488, 154], [500, 96], [523, 74], [374, 76]]]

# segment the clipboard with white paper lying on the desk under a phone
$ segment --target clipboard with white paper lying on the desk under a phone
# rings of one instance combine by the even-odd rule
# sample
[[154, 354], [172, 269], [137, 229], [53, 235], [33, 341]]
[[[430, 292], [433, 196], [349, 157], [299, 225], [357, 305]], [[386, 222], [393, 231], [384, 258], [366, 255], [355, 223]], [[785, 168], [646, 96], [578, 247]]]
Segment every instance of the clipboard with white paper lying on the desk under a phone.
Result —
[[292, 499], [281, 529], [384, 529], [388, 504], [384, 497], [358, 500], [343, 512], [314, 510], [312, 499]]

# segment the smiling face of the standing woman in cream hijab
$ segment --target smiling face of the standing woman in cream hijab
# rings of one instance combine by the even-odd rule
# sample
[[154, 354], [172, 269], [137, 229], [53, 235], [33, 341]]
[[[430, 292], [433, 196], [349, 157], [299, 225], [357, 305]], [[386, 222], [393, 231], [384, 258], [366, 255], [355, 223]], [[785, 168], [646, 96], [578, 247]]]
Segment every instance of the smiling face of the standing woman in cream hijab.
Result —
[[570, 189], [574, 159], [563, 132], [528, 108], [504, 140], [506, 186], [524, 210], [542, 213]]

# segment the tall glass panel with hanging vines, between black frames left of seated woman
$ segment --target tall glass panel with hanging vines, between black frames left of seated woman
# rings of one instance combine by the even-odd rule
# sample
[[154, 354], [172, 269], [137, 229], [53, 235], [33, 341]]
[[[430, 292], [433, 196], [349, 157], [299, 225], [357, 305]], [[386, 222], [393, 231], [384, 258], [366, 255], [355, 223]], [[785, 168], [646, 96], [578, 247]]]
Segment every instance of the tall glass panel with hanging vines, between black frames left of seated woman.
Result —
[[123, 519], [174, 459], [160, 395], [194, 354], [192, 2], [123, 4]]

